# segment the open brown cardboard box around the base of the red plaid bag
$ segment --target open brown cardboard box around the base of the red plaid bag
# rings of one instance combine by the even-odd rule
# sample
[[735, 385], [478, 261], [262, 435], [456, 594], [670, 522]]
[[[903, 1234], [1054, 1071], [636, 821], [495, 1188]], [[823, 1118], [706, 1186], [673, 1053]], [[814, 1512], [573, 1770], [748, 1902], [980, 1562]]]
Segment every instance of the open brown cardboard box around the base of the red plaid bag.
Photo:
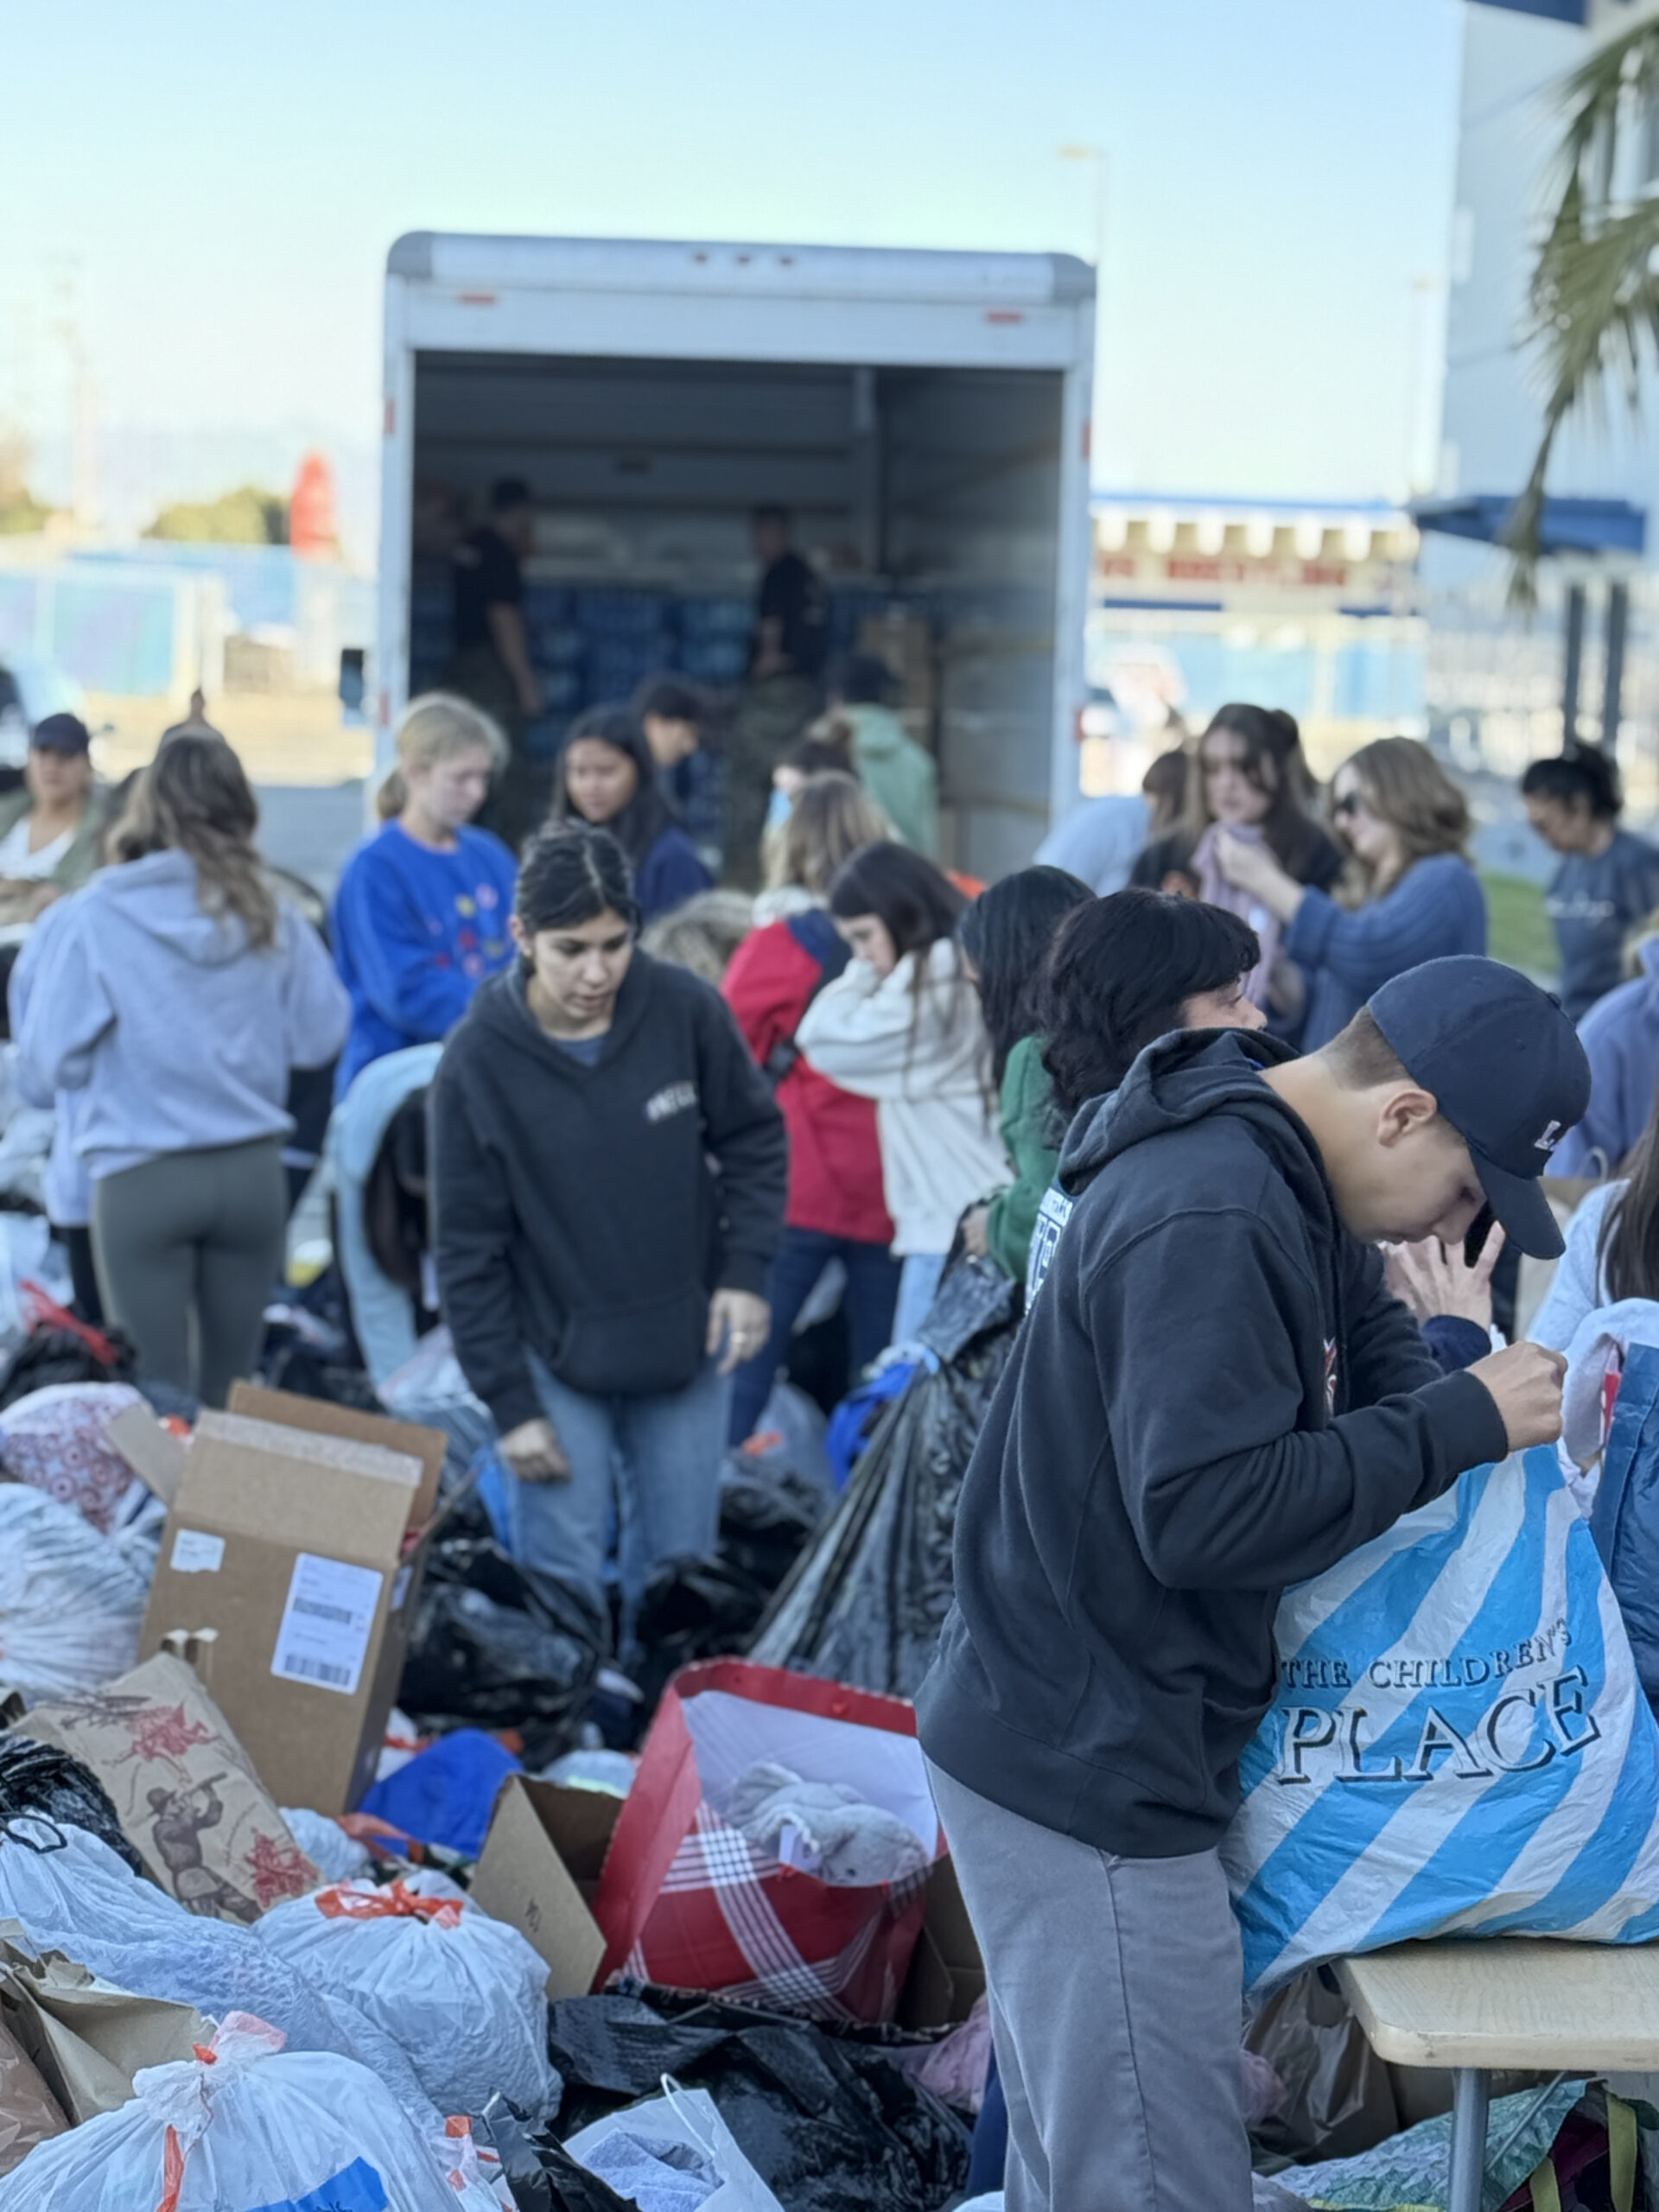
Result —
[[[509, 1774], [495, 1798], [473, 1902], [515, 1927], [546, 1960], [551, 2000], [586, 1997], [606, 1940], [593, 1918], [604, 1854], [622, 1798]], [[984, 1962], [956, 1869], [940, 1858], [927, 1878], [927, 1913], [898, 2000], [907, 2028], [956, 2026], [984, 1995]]]

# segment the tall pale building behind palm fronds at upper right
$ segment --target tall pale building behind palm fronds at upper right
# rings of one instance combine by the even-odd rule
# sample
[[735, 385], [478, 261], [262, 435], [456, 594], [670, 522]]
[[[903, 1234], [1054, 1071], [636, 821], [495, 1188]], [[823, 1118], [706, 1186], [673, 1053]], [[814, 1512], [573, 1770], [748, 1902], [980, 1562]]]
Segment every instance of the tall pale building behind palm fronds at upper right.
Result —
[[[1431, 732], [1460, 765], [1509, 776], [1568, 734], [1601, 739], [1613, 697], [1610, 734], [1635, 803], [1650, 812], [1659, 803], [1659, 374], [1644, 378], [1646, 427], [1619, 392], [1564, 427], [1548, 473], [1553, 555], [1531, 622], [1511, 604], [1509, 555], [1491, 544], [1540, 436], [1542, 365], [1522, 341], [1564, 80], [1644, 13], [1659, 13], [1659, 0], [1464, 7], [1440, 480], [1418, 515]], [[1632, 170], [1644, 175], [1626, 177], [1624, 190], [1652, 190], [1659, 128], [1632, 137]]]

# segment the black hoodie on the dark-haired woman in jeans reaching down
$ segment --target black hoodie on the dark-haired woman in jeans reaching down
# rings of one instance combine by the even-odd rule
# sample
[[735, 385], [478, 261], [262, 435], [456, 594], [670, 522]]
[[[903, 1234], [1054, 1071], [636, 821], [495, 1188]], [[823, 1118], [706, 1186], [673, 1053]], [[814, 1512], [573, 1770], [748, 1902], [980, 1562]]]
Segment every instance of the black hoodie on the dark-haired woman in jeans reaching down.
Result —
[[[518, 969], [487, 982], [431, 1086], [438, 1296], [507, 1433], [571, 1389], [644, 1398], [703, 1360], [710, 1292], [765, 1294], [787, 1141], [719, 991], [635, 951], [593, 1066]], [[719, 1175], [714, 1172], [719, 1168]]]

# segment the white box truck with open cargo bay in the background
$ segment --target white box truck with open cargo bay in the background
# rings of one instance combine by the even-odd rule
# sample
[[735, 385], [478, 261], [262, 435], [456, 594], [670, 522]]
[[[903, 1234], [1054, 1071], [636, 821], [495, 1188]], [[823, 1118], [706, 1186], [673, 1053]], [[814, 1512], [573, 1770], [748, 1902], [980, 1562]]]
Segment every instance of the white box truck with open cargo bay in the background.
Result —
[[[1077, 794], [1095, 279], [1066, 254], [411, 232], [387, 257], [378, 759], [449, 650], [449, 549], [538, 509], [553, 730], [648, 668], [739, 686], [754, 507], [838, 646], [891, 646], [945, 858], [1020, 867]], [[542, 732], [546, 741], [546, 732]]]

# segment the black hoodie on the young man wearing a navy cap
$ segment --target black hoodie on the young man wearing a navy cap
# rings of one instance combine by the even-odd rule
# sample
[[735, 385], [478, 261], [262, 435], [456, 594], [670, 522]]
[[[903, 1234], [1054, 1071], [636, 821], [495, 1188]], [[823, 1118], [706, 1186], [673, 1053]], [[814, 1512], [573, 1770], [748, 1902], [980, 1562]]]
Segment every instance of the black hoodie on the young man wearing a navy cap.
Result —
[[1166, 1037], [1073, 1121], [1077, 1203], [962, 1482], [916, 1699], [938, 1767], [1126, 1858], [1221, 1838], [1285, 1586], [1506, 1449], [1338, 1223], [1259, 1073], [1285, 1057]]

